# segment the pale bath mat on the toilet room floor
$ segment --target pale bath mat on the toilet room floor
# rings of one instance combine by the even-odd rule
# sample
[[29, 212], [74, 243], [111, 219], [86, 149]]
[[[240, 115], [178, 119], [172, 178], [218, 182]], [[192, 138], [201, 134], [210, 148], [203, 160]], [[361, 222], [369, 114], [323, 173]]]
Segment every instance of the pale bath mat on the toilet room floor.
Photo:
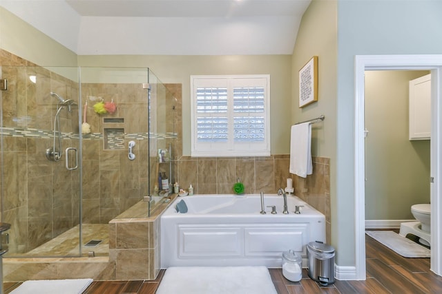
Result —
[[416, 244], [394, 231], [365, 231], [365, 233], [404, 258], [430, 258], [430, 249]]

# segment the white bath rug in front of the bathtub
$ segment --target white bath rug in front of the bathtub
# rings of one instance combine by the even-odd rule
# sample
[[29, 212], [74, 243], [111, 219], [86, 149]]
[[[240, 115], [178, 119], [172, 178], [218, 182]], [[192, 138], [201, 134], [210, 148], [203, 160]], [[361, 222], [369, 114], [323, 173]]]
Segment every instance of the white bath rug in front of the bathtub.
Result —
[[265, 266], [169, 267], [156, 294], [277, 294]]

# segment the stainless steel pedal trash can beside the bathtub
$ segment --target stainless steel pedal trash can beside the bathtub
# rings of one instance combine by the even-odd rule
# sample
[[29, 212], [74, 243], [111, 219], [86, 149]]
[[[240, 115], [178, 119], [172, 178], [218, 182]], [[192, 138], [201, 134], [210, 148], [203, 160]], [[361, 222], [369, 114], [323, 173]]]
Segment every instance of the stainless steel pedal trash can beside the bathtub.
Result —
[[334, 248], [323, 242], [309, 242], [307, 245], [309, 258], [308, 274], [312, 280], [321, 285], [334, 283]]

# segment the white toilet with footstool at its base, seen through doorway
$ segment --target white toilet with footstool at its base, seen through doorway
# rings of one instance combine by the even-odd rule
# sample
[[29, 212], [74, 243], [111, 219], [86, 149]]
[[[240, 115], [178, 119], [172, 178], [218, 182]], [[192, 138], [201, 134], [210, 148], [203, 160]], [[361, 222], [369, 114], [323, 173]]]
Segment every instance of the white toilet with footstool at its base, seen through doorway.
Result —
[[412, 213], [416, 220], [419, 222], [403, 222], [401, 223], [401, 230], [399, 235], [404, 237], [407, 234], [418, 236], [419, 242], [424, 245], [430, 246], [430, 204], [414, 204], [412, 205]]

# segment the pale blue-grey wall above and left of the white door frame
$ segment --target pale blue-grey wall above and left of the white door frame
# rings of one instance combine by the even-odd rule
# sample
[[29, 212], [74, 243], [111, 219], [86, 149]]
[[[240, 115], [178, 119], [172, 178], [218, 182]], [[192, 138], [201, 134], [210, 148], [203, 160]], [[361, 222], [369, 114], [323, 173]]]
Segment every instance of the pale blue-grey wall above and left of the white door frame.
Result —
[[[354, 266], [354, 58], [361, 54], [441, 54], [442, 1], [338, 1], [337, 264]], [[318, 20], [320, 21], [320, 20]]]

